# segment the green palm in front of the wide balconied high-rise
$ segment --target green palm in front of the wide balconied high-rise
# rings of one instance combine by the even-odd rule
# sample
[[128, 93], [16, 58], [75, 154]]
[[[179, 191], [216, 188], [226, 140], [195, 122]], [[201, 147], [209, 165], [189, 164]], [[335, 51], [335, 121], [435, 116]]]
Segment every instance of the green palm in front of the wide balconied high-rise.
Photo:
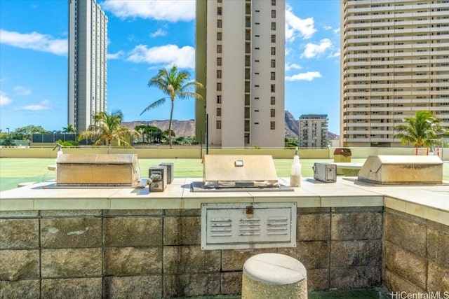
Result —
[[441, 127], [440, 120], [430, 111], [417, 111], [415, 117], [406, 118], [403, 121], [405, 124], [396, 127], [399, 132], [394, 137], [401, 138], [403, 144], [413, 144], [416, 155], [418, 148], [422, 146], [427, 147], [427, 154], [429, 154], [429, 146], [446, 132]]

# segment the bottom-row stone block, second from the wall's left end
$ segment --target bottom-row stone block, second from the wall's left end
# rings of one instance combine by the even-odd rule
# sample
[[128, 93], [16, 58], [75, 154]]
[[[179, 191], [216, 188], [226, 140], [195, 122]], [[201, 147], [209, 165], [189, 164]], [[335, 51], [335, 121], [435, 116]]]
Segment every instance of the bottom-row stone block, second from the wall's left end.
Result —
[[102, 278], [42, 279], [42, 298], [102, 298]]

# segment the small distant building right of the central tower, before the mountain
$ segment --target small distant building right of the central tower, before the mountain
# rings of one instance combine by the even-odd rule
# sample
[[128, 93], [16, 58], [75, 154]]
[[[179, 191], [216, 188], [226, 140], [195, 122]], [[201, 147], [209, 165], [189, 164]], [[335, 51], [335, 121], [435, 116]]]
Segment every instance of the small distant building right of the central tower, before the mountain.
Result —
[[303, 114], [300, 116], [300, 148], [328, 147], [328, 115]]

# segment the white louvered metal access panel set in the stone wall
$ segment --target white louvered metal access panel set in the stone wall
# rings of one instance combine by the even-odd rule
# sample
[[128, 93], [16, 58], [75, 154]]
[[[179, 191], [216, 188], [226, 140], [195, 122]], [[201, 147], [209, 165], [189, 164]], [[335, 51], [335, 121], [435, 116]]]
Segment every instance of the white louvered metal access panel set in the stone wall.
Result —
[[201, 204], [201, 249], [296, 246], [295, 202]]

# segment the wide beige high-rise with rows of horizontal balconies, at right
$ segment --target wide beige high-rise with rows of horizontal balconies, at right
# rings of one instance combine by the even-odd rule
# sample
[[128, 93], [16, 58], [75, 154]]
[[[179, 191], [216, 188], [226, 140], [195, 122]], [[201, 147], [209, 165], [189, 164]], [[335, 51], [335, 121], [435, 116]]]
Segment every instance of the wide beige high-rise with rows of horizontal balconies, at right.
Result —
[[449, 125], [449, 1], [342, 0], [343, 146], [398, 146], [427, 110]]

